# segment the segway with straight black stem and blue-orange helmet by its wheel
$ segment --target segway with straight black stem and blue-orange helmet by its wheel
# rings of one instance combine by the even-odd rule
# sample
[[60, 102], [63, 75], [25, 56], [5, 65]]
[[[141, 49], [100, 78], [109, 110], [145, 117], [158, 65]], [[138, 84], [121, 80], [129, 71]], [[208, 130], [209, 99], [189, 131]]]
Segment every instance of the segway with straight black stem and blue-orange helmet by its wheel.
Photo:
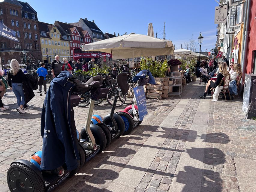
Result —
[[[124, 121], [123, 117], [118, 113], [115, 113], [116, 101], [118, 99], [118, 91], [119, 88], [122, 91], [122, 94], [125, 95], [129, 89], [127, 84], [127, 79], [131, 76], [131, 73], [120, 73], [116, 77], [116, 82], [118, 84], [118, 88], [116, 89], [116, 95], [114, 98], [113, 106], [111, 108], [110, 114], [107, 114], [103, 119], [101, 116], [95, 114], [92, 116], [91, 123], [100, 126], [103, 131], [111, 133], [109, 139], [107, 138], [107, 143], [110, 143], [112, 139], [118, 138], [125, 132], [127, 126], [130, 126], [133, 122], [132, 118], [130, 118], [130, 122]], [[106, 130], [106, 131], [105, 131]], [[109, 133], [108, 133], [109, 134]]]

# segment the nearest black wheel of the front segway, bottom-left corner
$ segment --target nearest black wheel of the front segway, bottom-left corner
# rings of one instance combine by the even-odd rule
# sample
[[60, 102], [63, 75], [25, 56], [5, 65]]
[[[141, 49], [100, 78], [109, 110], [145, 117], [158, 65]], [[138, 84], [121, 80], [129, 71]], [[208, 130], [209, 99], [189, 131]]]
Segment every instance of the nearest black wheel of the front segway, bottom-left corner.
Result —
[[7, 172], [8, 187], [11, 192], [44, 192], [44, 181], [30, 167], [21, 164], [11, 164]]

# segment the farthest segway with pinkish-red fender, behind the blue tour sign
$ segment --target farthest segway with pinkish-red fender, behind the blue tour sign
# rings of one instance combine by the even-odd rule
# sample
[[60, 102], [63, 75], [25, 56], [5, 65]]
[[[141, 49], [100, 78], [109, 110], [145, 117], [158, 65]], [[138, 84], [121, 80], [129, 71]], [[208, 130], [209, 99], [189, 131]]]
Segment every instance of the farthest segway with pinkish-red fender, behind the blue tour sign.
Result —
[[[155, 79], [149, 70], [140, 71], [133, 79], [133, 82], [137, 82], [136, 86], [143, 86], [147, 83], [155, 84]], [[125, 110], [116, 112], [122, 117], [125, 122], [125, 132], [124, 135], [129, 134], [135, 127], [140, 125], [143, 120], [139, 119], [139, 111], [137, 105], [135, 105], [136, 97], [134, 95], [132, 104], [127, 106]]]

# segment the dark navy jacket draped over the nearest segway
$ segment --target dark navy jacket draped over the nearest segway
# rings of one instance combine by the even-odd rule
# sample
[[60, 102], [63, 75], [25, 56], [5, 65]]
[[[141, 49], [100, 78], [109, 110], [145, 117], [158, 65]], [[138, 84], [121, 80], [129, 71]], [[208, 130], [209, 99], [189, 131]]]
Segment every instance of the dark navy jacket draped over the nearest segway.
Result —
[[78, 165], [77, 138], [72, 134], [71, 125], [73, 109], [70, 95], [75, 86], [68, 82], [71, 77], [73, 76], [68, 71], [62, 71], [52, 80], [44, 100], [41, 116], [41, 168], [44, 170], [53, 170], [65, 163], [68, 170], [74, 170]]

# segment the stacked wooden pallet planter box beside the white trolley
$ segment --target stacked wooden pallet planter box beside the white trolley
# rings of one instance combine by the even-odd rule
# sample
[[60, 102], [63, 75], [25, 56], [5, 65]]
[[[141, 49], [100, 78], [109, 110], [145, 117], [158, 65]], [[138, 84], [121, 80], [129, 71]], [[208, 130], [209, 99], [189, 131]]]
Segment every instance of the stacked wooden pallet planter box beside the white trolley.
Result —
[[168, 98], [168, 80], [169, 78], [155, 78], [155, 85], [147, 85], [146, 97], [158, 99]]

